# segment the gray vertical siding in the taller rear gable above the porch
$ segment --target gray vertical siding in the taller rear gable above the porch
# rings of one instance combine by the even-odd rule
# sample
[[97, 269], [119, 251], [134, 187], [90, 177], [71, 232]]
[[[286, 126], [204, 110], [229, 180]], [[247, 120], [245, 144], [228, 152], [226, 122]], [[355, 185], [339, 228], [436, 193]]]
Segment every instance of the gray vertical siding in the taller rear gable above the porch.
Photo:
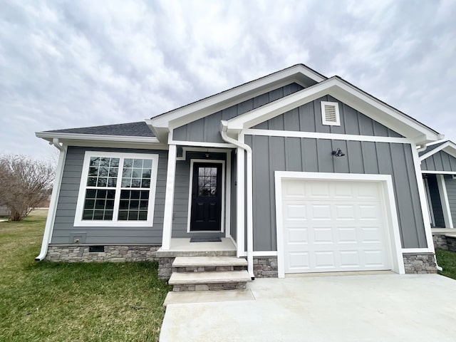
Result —
[[303, 89], [297, 83], [291, 83], [275, 90], [269, 91], [249, 100], [245, 100], [237, 105], [220, 110], [217, 113], [207, 115], [206, 117], [193, 121], [187, 125], [176, 128], [172, 133], [173, 140], [195, 141], [195, 142], [224, 142], [220, 136], [220, 121], [229, 120], [237, 115], [247, 113], [249, 110], [266, 105], [279, 98], [283, 98], [291, 93], [296, 93]]

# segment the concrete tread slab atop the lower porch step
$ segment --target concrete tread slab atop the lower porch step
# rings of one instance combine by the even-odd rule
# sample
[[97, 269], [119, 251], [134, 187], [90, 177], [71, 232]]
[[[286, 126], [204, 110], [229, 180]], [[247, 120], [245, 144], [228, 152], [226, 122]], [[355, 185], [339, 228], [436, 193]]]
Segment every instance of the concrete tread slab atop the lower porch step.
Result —
[[247, 271], [172, 273], [168, 284], [227, 284], [251, 281]]

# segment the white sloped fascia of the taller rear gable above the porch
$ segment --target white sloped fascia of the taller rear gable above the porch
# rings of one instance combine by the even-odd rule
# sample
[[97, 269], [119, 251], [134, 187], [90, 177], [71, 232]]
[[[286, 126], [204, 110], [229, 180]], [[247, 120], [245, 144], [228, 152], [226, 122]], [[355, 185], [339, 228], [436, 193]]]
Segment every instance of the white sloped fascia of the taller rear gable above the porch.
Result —
[[303, 65], [296, 65], [269, 76], [259, 78], [255, 81], [245, 83], [242, 86], [237, 86], [222, 93], [212, 95], [209, 98], [190, 103], [190, 105], [177, 108], [168, 113], [159, 115], [156, 118], [151, 118], [150, 125], [155, 128], [177, 128], [186, 123], [198, 120], [205, 115], [217, 113], [219, 110], [248, 100], [256, 95], [266, 93], [281, 86], [286, 86], [289, 83], [296, 82], [303, 85], [303, 76], [311, 78], [311, 80], [317, 83], [326, 80], [326, 78], [311, 71], [309, 68], [306, 68]]

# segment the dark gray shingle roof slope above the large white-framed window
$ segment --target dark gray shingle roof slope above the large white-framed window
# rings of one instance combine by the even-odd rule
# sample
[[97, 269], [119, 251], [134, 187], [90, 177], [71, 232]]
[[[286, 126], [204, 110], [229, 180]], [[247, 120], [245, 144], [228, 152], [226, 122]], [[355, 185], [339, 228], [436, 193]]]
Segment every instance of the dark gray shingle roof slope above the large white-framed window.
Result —
[[67, 128], [64, 130], [47, 130], [48, 133], [74, 133], [95, 135], [121, 135], [127, 137], [154, 137], [145, 121], [137, 123], [120, 123], [118, 125], [103, 125], [81, 128]]

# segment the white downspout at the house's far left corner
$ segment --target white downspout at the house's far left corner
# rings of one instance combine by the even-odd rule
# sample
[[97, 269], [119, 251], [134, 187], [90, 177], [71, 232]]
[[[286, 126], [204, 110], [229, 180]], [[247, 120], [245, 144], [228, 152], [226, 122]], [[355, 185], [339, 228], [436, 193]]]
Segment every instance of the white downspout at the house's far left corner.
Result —
[[54, 145], [58, 148], [60, 154], [58, 155], [56, 178], [54, 179], [54, 185], [52, 188], [51, 202], [49, 203], [48, 217], [46, 218], [46, 226], [44, 227], [41, 251], [38, 257], [35, 258], [35, 261], [43, 260], [46, 258], [46, 254], [48, 254], [48, 245], [49, 242], [51, 242], [54, 219], [56, 218], [57, 199], [62, 183], [63, 165], [65, 164], [66, 159], [66, 147], [63, 147], [63, 145], [59, 143], [58, 138], [53, 138], [52, 142], [49, 142], [49, 145]]

